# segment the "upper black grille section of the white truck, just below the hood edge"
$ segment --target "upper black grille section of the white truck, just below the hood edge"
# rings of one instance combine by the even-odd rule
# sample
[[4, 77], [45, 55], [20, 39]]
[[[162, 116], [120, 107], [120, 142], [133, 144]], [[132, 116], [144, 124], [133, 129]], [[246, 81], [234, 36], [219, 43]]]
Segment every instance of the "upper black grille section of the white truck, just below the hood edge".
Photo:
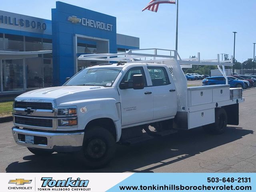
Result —
[[24, 108], [24, 109], [31, 108], [31, 109], [52, 110], [52, 103], [15, 101], [14, 108]]

